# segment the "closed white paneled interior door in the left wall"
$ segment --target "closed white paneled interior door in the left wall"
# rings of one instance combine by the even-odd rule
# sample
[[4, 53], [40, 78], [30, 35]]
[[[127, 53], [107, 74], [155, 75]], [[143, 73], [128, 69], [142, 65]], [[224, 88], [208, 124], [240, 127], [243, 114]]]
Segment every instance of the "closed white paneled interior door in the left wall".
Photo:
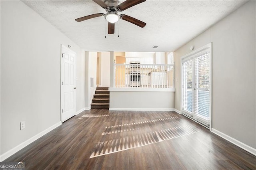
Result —
[[61, 46], [61, 121], [76, 114], [76, 53]]

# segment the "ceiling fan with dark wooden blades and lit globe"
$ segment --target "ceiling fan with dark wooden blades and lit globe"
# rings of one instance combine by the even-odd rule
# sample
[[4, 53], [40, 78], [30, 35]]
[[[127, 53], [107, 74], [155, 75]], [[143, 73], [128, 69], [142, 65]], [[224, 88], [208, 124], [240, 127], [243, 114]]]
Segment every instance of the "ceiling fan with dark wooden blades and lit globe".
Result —
[[146, 26], [145, 22], [137, 20], [136, 18], [133, 18], [125, 14], [120, 14], [120, 15], [117, 14], [118, 12], [122, 12], [132, 6], [145, 2], [146, 0], [126, 0], [121, 4], [118, 0], [105, 0], [104, 2], [102, 0], [93, 0], [93, 1], [96, 2], [102, 8], [104, 8], [107, 13], [106, 14], [98, 13], [98, 14], [92, 14], [92, 15], [81, 17], [81, 18], [77, 18], [75, 19], [77, 22], [81, 22], [91, 18], [96, 18], [99, 16], [105, 16], [105, 19], [108, 21], [108, 34], [115, 33], [115, 22], [117, 22], [119, 19], [128, 21], [141, 28]]

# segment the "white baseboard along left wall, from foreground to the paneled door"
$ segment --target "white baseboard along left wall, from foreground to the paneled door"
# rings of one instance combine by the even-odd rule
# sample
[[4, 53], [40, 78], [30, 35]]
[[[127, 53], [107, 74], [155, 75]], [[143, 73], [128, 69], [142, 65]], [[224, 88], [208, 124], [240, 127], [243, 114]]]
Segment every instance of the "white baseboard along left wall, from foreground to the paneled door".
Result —
[[36, 134], [35, 136], [33, 136], [32, 138], [26, 140], [25, 142], [22, 142], [21, 144], [19, 144], [18, 146], [12, 148], [11, 150], [5, 152], [4, 154], [0, 155], [0, 162], [2, 162], [3, 160], [9, 158], [10, 156], [12, 156], [13, 154], [15, 154], [16, 152], [18, 152], [19, 150], [21, 150], [22, 148], [28, 146], [29, 144], [31, 144], [32, 142], [34, 142], [35, 140], [37, 140], [38, 138], [44, 136], [46, 133], [52, 131], [54, 128], [60, 126], [62, 123], [58, 122], [55, 125], [52, 125], [51, 127], [47, 128], [46, 130]]

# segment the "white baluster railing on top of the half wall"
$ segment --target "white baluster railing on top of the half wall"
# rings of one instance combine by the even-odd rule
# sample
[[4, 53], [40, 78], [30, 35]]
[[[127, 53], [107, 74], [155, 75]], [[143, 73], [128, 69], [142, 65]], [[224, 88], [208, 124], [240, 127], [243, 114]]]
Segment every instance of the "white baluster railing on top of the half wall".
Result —
[[114, 64], [115, 87], [173, 88], [174, 65]]

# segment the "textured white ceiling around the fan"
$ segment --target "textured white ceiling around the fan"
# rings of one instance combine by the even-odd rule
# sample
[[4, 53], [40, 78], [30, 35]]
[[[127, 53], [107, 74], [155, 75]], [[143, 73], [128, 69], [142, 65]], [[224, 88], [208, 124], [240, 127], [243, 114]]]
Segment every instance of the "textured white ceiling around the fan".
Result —
[[[104, 16], [83, 22], [74, 20], [106, 13], [92, 0], [22, 2], [87, 51], [174, 51], [246, 1], [147, 0], [118, 13], [146, 22], [144, 28], [120, 20], [111, 35]], [[153, 45], [158, 48], [152, 48]]]

